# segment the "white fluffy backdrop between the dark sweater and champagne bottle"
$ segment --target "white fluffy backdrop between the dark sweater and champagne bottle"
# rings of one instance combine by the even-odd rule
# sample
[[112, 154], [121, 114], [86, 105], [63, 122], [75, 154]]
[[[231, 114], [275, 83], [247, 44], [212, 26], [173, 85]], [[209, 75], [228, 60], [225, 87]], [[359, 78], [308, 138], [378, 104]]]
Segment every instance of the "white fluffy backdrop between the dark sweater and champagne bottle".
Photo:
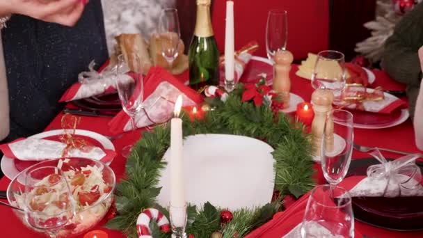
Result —
[[175, 0], [102, 0], [104, 29], [109, 54], [114, 37], [121, 33], [141, 33], [149, 39], [159, 24], [161, 10], [175, 7]]

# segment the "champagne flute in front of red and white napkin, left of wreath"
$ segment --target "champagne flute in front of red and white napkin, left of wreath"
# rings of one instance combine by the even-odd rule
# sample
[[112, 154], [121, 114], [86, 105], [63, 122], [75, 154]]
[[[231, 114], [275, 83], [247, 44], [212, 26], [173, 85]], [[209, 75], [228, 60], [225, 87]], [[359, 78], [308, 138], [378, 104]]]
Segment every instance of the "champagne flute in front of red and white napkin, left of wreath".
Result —
[[[121, 54], [118, 56], [116, 72], [116, 88], [122, 109], [131, 118], [132, 132], [136, 129], [135, 116], [143, 106], [143, 63], [138, 54]], [[133, 145], [122, 149], [122, 156], [127, 158]]]

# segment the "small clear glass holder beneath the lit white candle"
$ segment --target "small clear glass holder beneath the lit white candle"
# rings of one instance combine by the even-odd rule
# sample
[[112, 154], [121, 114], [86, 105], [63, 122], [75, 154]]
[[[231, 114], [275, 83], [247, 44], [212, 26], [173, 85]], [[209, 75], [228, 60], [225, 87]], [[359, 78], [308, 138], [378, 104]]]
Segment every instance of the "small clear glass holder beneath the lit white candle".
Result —
[[169, 218], [172, 227], [172, 238], [186, 238], [186, 203], [182, 207], [169, 205]]

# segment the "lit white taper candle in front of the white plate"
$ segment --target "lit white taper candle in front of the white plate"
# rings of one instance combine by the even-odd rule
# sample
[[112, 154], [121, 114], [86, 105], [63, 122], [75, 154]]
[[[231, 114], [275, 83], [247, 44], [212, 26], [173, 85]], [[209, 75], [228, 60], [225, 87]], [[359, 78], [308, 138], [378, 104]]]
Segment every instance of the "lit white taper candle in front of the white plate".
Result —
[[175, 118], [170, 120], [170, 205], [184, 207], [184, 161], [182, 159], [182, 95], [175, 102]]

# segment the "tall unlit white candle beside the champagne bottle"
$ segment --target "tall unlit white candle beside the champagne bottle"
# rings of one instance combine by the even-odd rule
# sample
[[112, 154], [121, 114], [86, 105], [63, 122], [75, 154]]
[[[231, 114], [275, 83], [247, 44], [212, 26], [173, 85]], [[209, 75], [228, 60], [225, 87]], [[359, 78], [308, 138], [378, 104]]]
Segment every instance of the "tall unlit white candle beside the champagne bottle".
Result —
[[225, 79], [234, 80], [234, 2], [226, 1]]

